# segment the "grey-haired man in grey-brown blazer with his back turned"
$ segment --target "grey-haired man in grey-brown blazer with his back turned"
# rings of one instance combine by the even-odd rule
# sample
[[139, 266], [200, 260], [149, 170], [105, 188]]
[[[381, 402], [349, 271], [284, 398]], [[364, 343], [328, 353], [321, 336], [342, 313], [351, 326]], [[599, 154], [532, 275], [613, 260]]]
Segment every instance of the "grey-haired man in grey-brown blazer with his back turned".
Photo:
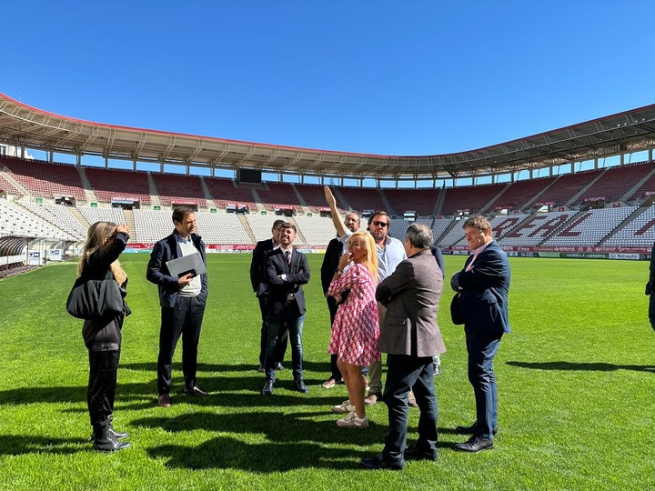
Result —
[[[378, 302], [387, 306], [378, 347], [388, 354], [382, 399], [388, 406], [389, 430], [382, 453], [362, 459], [362, 466], [369, 469], [399, 470], [406, 458], [437, 460], [438, 406], [432, 356], [446, 351], [437, 326], [443, 275], [430, 253], [432, 232], [426, 225], [409, 225], [404, 246], [408, 258], [376, 290]], [[412, 387], [420, 416], [418, 440], [407, 448]]]

